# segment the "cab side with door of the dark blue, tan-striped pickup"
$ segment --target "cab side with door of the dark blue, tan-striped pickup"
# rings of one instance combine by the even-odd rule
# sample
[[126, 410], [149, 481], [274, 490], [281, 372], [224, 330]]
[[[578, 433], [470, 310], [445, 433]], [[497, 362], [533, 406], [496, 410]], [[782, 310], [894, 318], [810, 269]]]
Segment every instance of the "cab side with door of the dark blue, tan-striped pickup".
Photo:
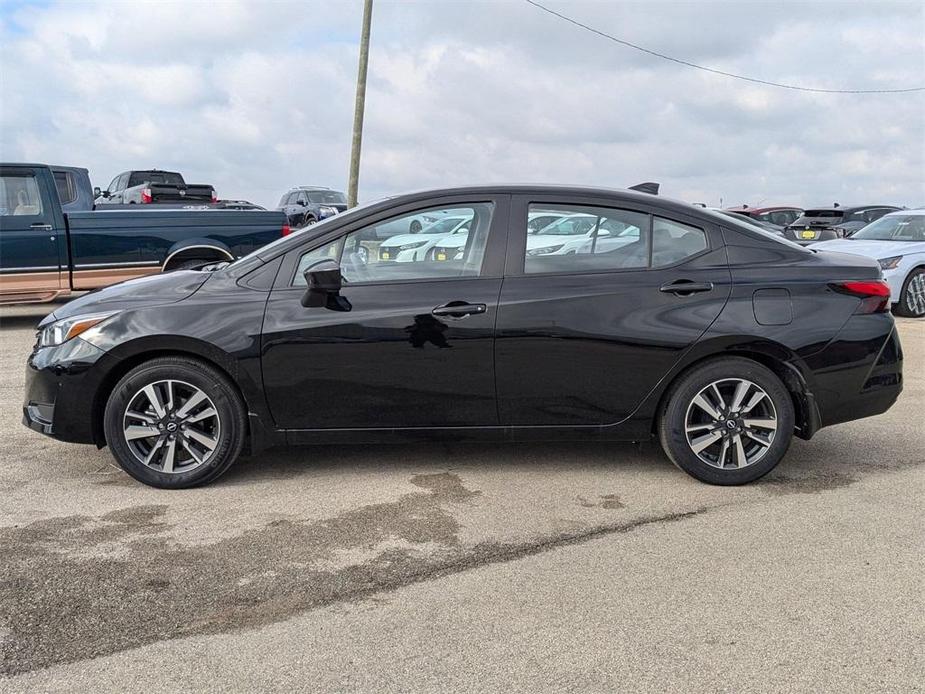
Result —
[[0, 294], [7, 299], [51, 298], [67, 289], [67, 234], [49, 195], [53, 186], [43, 169], [0, 169]]

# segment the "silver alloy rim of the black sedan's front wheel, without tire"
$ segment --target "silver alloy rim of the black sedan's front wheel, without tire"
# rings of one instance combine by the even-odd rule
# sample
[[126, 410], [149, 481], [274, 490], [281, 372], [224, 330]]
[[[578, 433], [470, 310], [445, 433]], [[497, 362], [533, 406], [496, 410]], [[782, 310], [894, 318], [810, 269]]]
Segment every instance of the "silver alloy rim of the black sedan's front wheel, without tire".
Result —
[[129, 400], [122, 431], [132, 455], [143, 465], [181, 473], [204, 465], [221, 438], [215, 404], [185, 381], [155, 381]]

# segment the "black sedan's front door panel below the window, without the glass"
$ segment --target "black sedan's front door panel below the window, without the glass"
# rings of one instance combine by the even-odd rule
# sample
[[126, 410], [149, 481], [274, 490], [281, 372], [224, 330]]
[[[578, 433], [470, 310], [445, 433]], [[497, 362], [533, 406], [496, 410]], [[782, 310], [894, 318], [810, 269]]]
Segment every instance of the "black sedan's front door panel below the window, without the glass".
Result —
[[[284, 429], [496, 425], [492, 343], [500, 279], [346, 286], [352, 307], [305, 308], [275, 290], [263, 329], [264, 389]], [[436, 316], [454, 301], [484, 304]]]

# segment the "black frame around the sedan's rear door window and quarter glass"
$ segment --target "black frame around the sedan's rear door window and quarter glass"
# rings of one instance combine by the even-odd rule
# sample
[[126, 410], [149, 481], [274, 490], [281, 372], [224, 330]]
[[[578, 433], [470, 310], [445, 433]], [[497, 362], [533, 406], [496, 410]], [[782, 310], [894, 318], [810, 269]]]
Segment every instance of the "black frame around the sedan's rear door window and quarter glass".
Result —
[[[588, 270], [573, 270], [573, 271], [555, 271], [555, 272], [526, 272], [526, 262], [527, 262], [527, 253], [526, 253], [526, 237], [527, 234], [524, 233], [521, 235], [520, 228], [523, 226], [526, 230], [526, 221], [529, 219], [530, 206], [531, 205], [562, 205], [565, 207], [603, 207], [613, 210], [625, 210], [626, 212], [635, 212], [636, 214], [644, 214], [649, 217], [649, 257], [645, 267], [631, 267], [631, 268], [593, 268]], [[652, 267], [652, 240], [653, 240], [653, 228], [654, 228], [654, 218], [661, 217], [669, 222], [675, 222], [677, 224], [684, 224], [686, 226], [694, 227], [703, 232], [704, 238], [707, 242], [707, 247], [702, 251], [698, 251], [693, 255], [689, 255], [686, 258], [682, 258], [676, 263], [671, 265], [659, 265], [658, 267]], [[679, 219], [679, 217], [683, 217]], [[523, 225], [520, 222], [523, 221]], [[718, 236], [719, 235], [719, 236]], [[505, 258], [504, 265], [504, 276], [505, 277], [570, 277], [570, 276], [584, 276], [584, 275], [612, 275], [612, 274], [622, 274], [625, 272], [661, 272], [663, 270], [671, 270], [673, 268], [685, 265], [690, 261], [699, 258], [700, 256], [706, 255], [715, 251], [717, 248], [722, 247], [723, 243], [717, 243], [717, 241], [722, 241], [721, 232], [718, 227], [713, 225], [712, 222], [701, 220], [695, 217], [690, 217], [687, 215], [676, 214], [673, 210], [664, 210], [659, 209], [654, 205], [639, 205], [635, 203], [624, 203], [622, 200], [607, 200], [601, 198], [590, 198], [590, 197], [575, 197], [571, 201], [563, 201], [561, 197], [558, 196], [545, 196], [545, 195], [517, 195], [514, 196], [512, 210], [511, 210], [511, 225], [509, 232], [509, 242], [508, 242], [508, 252]], [[519, 260], [518, 260], [519, 258]], [[518, 268], [519, 263], [519, 268]]]

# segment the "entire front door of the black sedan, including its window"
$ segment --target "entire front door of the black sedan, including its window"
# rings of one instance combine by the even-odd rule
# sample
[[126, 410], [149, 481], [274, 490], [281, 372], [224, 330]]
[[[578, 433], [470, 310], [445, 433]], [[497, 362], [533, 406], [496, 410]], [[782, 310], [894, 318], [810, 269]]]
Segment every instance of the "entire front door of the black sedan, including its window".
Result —
[[[263, 328], [263, 378], [284, 429], [496, 426], [494, 328], [507, 196], [445, 196], [338, 224], [288, 253]], [[386, 252], [381, 225], [421, 210], [466, 210], [470, 231], [447, 261], [419, 253], [445, 233], [422, 229]], [[404, 232], [403, 232], [404, 233]], [[413, 248], [412, 248], [413, 247]], [[305, 271], [340, 262], [340, 298], [304, 307]], [[346, 309], [346, 310], [344, 310]]]

